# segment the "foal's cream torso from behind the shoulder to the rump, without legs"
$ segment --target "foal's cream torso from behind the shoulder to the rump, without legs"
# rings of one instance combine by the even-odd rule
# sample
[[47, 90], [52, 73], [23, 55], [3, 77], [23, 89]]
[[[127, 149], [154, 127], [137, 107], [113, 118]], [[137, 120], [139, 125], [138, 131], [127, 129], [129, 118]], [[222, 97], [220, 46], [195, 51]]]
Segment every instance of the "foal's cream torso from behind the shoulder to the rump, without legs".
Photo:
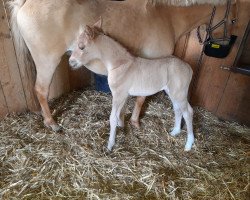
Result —
[[175, 56], [153, 60], [137, 58], [127, 76], [130, 95], [148, 96], [161, 90], [188, 90], [192, 69]]

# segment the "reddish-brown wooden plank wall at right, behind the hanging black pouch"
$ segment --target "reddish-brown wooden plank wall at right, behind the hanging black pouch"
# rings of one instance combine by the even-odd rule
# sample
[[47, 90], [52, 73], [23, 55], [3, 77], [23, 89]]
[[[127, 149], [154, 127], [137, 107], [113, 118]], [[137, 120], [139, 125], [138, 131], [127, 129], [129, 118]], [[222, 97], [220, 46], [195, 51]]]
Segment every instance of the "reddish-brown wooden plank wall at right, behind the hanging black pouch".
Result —
[[[250, 20], [250, 2], [238, 2], [237, 6], [238, 21], [233, 30], [233, 34], [238, 36], [237, 41], [225, 59], [203, 57], [198, 79], [193, 80], [191, 103], [204, 107], [221, 119], [250, 126], [250, 77], [223, 69], [233, 67]], [[191, 64], [195, 73], [202, 50], [196, 30], [183, 36], [176, 47], [175, 55]]]

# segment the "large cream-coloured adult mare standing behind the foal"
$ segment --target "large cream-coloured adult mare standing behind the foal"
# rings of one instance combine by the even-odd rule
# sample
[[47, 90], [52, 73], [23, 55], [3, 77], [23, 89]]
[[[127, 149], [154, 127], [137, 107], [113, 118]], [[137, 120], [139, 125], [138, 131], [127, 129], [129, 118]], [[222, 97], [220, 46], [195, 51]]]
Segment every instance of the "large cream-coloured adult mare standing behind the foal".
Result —
[[[212, 11], [212, 5], [207, 4], [174, 7], [157, 6], [150, 2], [154, 1], [9, 1], [12, 32], [19, 47], [18, 54], [26, 54], [27, 46], [36, 65], [35, 91], [45, 125], [53, 130], [59, 128], [52, 118], [47, 102], [49, 86], [61, 56], [73, 49], [75, 39], [86, 24], [93, 24], [102, 16], [104, 31], [133, 54], [145, 58], [160, 58], [173, 54], [180, 36], [208, 22]], [[224, 10], [225, 6], [218, 7], [218, 17], [223, 17]], [[86, 67], [98, 74], [107, 75], [105, 67], [98, 60]], [[144, 99], [145, 97], [137, 99], [132, 114], [132, 121], [137, 126]]]

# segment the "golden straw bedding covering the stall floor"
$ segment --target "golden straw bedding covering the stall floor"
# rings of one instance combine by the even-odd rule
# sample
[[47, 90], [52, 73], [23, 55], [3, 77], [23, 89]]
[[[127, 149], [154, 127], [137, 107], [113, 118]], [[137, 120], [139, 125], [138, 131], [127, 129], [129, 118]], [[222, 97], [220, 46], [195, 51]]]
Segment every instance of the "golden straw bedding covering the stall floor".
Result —
[[111, 96], [73, 92], [51, 103], [54, 133], [33, 113], [0, 122], [0, 199], [248, 199], [249, 128], [195, 108], [195, 146], [173, 138], [163, 93], [148, 98], [141, 129], [128, 123], [106, 153]]

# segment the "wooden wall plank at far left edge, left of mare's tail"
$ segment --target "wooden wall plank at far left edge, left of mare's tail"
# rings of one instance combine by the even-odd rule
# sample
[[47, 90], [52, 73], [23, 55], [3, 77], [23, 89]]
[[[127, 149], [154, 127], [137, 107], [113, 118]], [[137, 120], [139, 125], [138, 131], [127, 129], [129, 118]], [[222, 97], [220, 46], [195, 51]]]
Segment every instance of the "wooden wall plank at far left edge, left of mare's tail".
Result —
[[26, 110], [27, 102], [23, 83], [9, 32], [8, 20], [2, 4], [0, 4], [0, 72], [2, 95], [4, 95], [8, 111], [20, 112]]

